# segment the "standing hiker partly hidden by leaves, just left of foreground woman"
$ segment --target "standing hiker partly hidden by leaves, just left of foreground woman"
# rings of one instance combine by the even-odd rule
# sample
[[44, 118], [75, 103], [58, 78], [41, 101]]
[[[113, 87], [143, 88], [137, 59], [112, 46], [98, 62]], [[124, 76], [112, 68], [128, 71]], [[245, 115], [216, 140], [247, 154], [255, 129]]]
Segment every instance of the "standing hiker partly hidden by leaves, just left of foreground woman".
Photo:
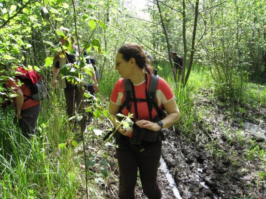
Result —
[[[59, 56], [56, 57], [57, 59], [56, 59], [56, 63], [54, 66], [53, 77], [52, 77], [52, 85], [54, 86], [54, 88], [56, 88], [56, 85], [57, 85], [56, 79], [59, 74], [60, 68], [67, 63], [72, 63], [72, 64], [75, 63], [76, 56], [79, 55], [79, 52], [82, 51], [82, 49], [78, 50], [78, 47], [74, 45], [73, 36], [68, 37], [68, 40], [63, 37], [60, 37], [60, 43], [64, 44], [65, 42], [71, 42], [72, 49], [75, 50], [75, 54], [69, 55], [68, 53], [66, 53], [66, 58], [59, 57]], [[88, 57], [88, 53], [86, 51], [84, 51], [84, 56]], [[90, 64], [89, 58], [86, 58], [86, 62], [87, 64]], [[96, 76], [94, 72], [92, 73], [92, 80], [93, 80], [92, 88], [94, 91], [97, 92], [98, 83], [96, 81]], [[64, 88], [67, 114], [69, 117], [72, 117], [76, 114], [76, 110], [81, 109], [80, 104], [81, 104], [83, 92], [78, 89], [77, 85], [73, 85], [69, 83], [66, 78], [62, 79], [60, 83], [61, 83], [61, 87]]]

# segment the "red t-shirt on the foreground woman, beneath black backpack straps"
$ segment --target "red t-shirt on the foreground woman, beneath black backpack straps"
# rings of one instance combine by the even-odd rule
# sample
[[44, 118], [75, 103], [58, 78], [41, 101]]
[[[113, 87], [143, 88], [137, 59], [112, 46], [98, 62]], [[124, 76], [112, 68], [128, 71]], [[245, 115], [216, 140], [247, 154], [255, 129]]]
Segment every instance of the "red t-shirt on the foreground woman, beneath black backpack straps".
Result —
[[[148, 86], [149, 86], [149, 80], [150, 80], [150, 74], [148, 75], [148, 85], [147, 85], [147, 91], [148, 91]], [[146, 82], [145, 80], [141, 82], [138, 85], [134, 85], [134, 90], [135, 90], [135, 95], [136, 98], [138, 99], [146, 99], [145, 95], [145, 87], [146, 87]], [[170, 86], [160, 77], [157, 85], [157, 90], [156, 90], [156, 99], [157, 99], [157, 104], [159, 108], [161, 109], [163, 104], [167, 103], [171, 99], [174, 98], [174, 94], [170, 88]], [[125, 100], [125, 89], [124, 89], [124, 79], [119, 79], [117, 83], [115, 84], [115, 87], [113, 89], [111, 98], [111, 102], [121, 106]], [[139, 119], [145, 119], [149, 120], [149, 113], [148, 113], [148, 105], [147, 102], [137, 102], [137, 110], [138, 110], [138, 116]], [[131, 109], [130, 112], [132, 114], [135, 113], [134, 109], [134, 102], [131, 103]], [[128, 110], [124, 108], [122, 110], [123, 115], [128, 115]], [[156, 110], [153, 108], [152, 109], [152, 118], [154, 118], [157, 114]]]

